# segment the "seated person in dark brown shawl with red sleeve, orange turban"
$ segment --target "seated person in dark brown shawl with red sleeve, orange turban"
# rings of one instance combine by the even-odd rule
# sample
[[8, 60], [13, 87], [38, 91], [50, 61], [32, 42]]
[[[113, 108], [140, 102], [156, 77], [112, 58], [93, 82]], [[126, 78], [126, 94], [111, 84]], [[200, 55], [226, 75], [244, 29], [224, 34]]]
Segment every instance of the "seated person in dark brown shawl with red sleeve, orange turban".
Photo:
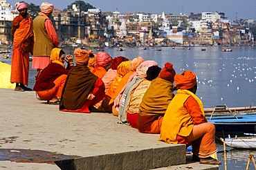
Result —
[[74, 55], [76, 66], [68, 73], [60, 100], [60, 111], [91, 113], [93, 105], [105, 96], [104, 83], [88, 68], [88, 51], [76, 48]]

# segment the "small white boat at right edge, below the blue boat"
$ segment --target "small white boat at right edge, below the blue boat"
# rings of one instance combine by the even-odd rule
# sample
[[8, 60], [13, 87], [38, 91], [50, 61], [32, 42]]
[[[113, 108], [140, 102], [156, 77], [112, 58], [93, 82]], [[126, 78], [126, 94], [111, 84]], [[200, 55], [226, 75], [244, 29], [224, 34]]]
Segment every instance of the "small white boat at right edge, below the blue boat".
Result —
[[235, 149], [256, 149], [256, 136], [243, 136], [230, 138], [225, 138], [225, 143], [228, 147]]

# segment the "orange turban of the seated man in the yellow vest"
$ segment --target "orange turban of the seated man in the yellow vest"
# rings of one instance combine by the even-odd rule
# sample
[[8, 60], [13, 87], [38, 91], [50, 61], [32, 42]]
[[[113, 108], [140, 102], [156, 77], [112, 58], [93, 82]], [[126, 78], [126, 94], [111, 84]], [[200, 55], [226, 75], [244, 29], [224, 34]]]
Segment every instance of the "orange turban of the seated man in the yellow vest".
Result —
[[181, 75], [174, 76], [174, 82], [176, 88], [187, 90], [196, 85], [196, 75], [190, 70], [185, 70]]

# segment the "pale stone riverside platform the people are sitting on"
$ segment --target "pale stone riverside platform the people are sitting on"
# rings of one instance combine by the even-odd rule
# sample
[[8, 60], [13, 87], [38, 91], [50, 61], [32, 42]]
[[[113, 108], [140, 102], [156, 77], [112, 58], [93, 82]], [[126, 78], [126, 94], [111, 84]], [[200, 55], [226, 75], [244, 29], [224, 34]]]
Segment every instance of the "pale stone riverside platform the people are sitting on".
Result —
[[68, 113], [34, 91], [0, 88], [0, 169], [219, 169], [191, 162], [109, 113]]

